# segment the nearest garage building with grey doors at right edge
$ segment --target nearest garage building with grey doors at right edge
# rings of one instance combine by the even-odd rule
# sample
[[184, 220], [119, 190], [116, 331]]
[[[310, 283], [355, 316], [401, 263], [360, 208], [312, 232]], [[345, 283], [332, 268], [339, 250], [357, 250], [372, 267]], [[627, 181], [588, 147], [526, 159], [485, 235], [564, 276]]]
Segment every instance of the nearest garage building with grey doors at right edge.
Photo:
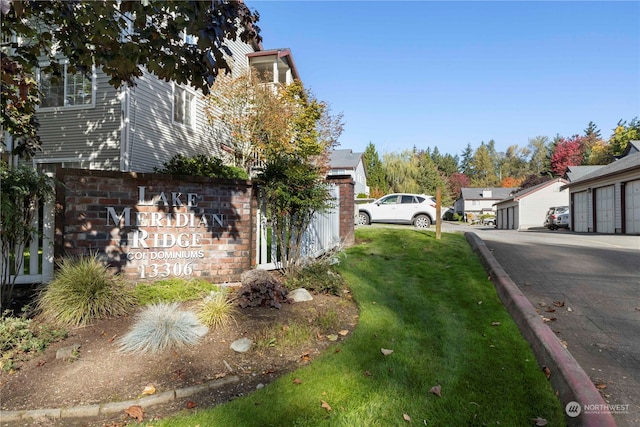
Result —
[[569, 190], [571, 229], [640, 235], [640, 141], [614, 162], [562, 187]]

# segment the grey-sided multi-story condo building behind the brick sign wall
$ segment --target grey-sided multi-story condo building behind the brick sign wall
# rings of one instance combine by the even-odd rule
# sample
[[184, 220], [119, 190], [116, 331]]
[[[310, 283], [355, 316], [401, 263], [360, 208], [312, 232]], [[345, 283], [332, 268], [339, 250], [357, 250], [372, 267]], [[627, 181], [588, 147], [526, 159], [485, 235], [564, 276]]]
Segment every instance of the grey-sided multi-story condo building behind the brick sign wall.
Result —
[[[288, 50], [262, 51], [256, 43], [228, 41], [232, 73], [254, 66], [273, 72], [273, 83], [298, 78]], [[227, 155], [224, 143], [204, 113], [202, 93], [145, 72], [134, 87], [116, 89], [95, 70], [91, 79], [65, 73], [53, 85], [38, 76], [45, 93], [37, 116], [42, 152], [34, 163], [47, 171], [56, 166], [123, 172], [153, 172], [180, 153]]]

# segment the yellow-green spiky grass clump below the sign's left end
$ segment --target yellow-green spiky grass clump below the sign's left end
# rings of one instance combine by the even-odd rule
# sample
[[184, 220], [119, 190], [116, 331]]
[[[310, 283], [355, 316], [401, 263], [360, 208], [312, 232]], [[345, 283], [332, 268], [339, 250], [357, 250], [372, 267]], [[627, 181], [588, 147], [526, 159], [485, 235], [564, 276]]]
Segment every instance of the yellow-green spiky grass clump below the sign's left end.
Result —
[[36, 309], [44, 319], [62, 326], [83, 326], [126, 314], [135, 305], [124, 279], [111, 274], [96, 257], [65, 259], [59, 267], [37, 297]]

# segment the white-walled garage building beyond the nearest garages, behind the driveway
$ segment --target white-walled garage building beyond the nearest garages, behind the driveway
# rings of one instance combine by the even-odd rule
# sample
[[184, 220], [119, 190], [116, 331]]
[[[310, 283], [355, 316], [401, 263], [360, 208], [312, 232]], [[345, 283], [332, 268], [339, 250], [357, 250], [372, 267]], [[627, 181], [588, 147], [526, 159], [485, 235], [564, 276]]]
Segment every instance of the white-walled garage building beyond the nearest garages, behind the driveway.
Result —
[[551, 206], [569, 205], [569, 192], [562, 189], [567, 182], [562, 178], [552, 179], [495, 203], [496, 227], [505, 230], [542, 227]]

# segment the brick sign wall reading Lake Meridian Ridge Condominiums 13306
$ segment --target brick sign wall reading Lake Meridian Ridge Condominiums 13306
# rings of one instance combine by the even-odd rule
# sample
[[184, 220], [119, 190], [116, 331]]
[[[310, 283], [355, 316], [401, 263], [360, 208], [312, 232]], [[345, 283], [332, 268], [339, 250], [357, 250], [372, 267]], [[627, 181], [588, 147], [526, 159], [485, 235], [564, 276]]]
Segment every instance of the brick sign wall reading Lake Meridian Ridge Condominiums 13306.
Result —
[[255, 265], [250, 182], [62, 169], [57, 258], [99, 254], [133, 280], [236, 282]]

